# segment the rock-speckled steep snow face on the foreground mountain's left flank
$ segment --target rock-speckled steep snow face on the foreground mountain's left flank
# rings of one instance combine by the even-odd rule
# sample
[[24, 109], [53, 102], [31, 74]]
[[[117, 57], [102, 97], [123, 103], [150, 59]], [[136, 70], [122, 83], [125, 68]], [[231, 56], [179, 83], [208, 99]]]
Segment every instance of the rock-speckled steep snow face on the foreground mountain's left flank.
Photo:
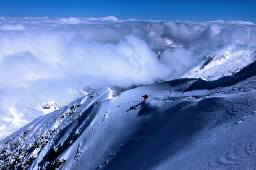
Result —
[[[28, 168], [34, 159], [44, 156], [45, 152], [52, 152], [52, 148], [56, 151], [56, 153], [54, 151], [52, 154], [59, 153], [59, 146], [55, 144], [56, 142], [60, 142], [63, 145], [66, 140], [65, 138], [70, 139], [71, 137], [72, 139], [80, 134], [81, 130], [84, 130], [84, 125], [81, 121], [82, 114], [91, 106], [113, 97], [115, 97], [115, 92], [109, 88], [100, 89], [93, 94], [79, 98], [59, 110], [28, 123], [23, 127], [26, 129], [24, 132], [23, 128], [21, 128], [13, 133], [13, 136], [9, 136], [12, 137], [11, 140], [5, 141], [4, 145], [0, 146], [2, 152], [0, 161], [5, 164], [2, 168], [25, 169]], [[89, 120], [93, 119], [90, 116], [88, 118]], [[72, 136], [69, 134], [70, 130], [74, 132]], [[65, 143], [65, 145], [70, 145], [71, 143]], [[49, 159], [51, 158], [49, 157]], [[49, 164], [48, 167], [50, 166], [54, 167], [55, 165]]]

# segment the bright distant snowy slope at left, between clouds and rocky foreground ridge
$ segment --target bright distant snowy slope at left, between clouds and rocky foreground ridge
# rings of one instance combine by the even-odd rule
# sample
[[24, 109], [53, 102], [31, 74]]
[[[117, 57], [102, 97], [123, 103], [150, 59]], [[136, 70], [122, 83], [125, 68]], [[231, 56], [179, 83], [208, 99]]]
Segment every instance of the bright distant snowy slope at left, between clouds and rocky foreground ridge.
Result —
[[[69, 101], [82, 97], [93, 90], [95, 89], [91, 87], [85, 87], [83, 89], [70, 89], [70, 92], [68, 93], [70, 95]], [[20, 98], [21, 96], [21, 94], [17, 94], [17, 98]], [[47, 99], [47, 95], [45, 96], [44, 100], [31, 96], [30, 100], [20, 103], [8, 101], [9, 100], [2, 101], [2, 103], [0, 103], [0, 139], [3, 139], [4, 137], [15, 132], [27, 123], [33, 121], [35, 118], [53, 112], [54, 110], [58, 110], [63, 107], [63, 105], [68, 104], [65, 99], [60, 102], [49, 100]]]

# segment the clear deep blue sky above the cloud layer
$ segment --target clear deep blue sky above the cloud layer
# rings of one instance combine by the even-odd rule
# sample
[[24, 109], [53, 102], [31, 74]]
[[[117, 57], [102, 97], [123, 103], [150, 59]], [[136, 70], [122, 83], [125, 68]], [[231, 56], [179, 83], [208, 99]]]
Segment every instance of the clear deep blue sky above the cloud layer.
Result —
[[246, 20], [256, 0], [0, 0], [0, 16], [104, 17], [152, 20]]

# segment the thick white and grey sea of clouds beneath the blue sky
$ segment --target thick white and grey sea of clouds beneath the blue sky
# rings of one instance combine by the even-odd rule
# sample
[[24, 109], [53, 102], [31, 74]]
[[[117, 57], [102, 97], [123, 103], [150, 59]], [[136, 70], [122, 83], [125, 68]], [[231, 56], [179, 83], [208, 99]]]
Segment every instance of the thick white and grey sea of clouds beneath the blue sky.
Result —
[[65, 105], [84, 87], [178, 78], [237, 44], [255, 47], [254, 23], [0, 17], [0, 123], [24, 125], [42, 113], [26, 118], [23, 106]]

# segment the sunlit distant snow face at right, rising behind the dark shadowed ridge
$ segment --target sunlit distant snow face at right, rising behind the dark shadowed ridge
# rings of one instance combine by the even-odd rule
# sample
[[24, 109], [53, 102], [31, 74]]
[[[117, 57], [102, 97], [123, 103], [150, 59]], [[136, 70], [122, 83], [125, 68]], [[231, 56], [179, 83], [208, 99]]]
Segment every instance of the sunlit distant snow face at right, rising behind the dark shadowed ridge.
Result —
[[[256, 60], [255, 46], [226, 49], [218, 56], [207, 56], [197, 65], [186, 71], [181, 78], [198, 78], [217, 80], [223, 76], [237, 73], [243, 67]], [[234, 51], [233, 51], [234, 50]]]

